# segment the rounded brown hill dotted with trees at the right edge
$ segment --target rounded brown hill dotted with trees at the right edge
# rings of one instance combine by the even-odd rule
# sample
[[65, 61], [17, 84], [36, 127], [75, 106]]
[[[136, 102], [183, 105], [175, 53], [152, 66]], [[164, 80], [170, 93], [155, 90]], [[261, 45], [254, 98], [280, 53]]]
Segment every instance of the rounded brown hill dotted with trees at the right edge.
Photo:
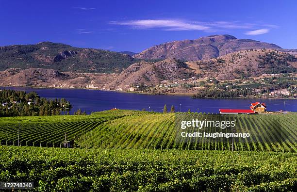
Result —
[[196, 73], [202, 77], [215, 77], [217, 80], [297, 72], [297, 58], [294, 55], [271, 49], [242, 50], [196, 61], [195, 64], [188, 63], [192, 63], [194, 69], [199, 69]]

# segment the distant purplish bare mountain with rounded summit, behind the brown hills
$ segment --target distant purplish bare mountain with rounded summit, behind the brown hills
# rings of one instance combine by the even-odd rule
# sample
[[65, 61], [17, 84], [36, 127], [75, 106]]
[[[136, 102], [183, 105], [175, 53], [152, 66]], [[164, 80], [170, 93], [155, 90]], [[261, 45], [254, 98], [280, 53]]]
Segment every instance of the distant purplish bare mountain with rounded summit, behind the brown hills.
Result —
[[172, 41], [153, 46], [139, 54], [133, 55], [133, 57], [148, 60], [176, 58], [185, 61], [196, 61], [211, 59], [250, 48], [281, 49], [277, 45], [251, 39], [237, 39], [231, 35], [212, 35], [195, 40]]

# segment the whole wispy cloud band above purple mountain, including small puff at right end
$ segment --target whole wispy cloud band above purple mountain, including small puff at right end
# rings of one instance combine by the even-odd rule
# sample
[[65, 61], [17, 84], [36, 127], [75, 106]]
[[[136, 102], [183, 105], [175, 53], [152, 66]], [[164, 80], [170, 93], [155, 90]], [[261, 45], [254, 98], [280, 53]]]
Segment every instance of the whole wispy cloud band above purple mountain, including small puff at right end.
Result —
[[244, 23], [241, 21], [186, 21], [179, 19], [139, 19], [139, 20], [125, 20], [125, 21], [110, 21], [110, 24], [129, 26], [132, 29], [145, 30], [145, 29], [160, 29], [164, 31], [205, 31], [217, 32], [225, 30], [252, 30], [245, 34], [257, 35], [269, 32], [270, 29], [276, 29], [278, 26], [271, 24], [259, 23]]

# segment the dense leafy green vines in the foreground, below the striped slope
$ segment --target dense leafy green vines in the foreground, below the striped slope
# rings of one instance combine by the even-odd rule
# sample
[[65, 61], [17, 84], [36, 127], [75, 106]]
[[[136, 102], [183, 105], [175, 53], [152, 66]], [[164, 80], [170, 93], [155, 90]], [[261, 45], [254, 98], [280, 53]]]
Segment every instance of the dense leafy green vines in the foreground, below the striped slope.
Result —
[[0, 181], [32, 191], [283, 191], [297, 187], [295, 153], [0, 146]]

